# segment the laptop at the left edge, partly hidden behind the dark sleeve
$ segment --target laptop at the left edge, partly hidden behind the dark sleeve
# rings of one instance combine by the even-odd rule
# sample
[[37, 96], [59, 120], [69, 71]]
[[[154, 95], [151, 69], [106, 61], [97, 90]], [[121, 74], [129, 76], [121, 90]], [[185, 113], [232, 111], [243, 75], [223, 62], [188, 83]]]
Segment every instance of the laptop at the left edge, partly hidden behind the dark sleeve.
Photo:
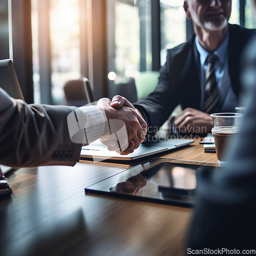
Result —
[[[0, 60], [0, 87], [4, 89], [12, 98], [24, 100], [16, 76], [13, 62], [10, 59]], [[11, 167], [0, 164], [3, 174], [6, 174]]]

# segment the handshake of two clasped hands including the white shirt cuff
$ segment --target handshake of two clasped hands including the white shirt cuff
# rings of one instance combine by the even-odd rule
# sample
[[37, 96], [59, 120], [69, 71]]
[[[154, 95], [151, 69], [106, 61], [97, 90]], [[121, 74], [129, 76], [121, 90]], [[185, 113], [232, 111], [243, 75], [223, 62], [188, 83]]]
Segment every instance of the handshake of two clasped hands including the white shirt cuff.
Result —
[[[114, 96], [112, 101], [101, 98], [97, 107], [86, 106], [82, 107], [82, 111], [78, 108], [69, 114], [68, 127], [72, 142], [86, 145], [100, 138], [109, 151], [116, 151], [121, 155], [133, 153], [147, 133], [147, 123], [140, 112], [121, 96]], [[105, 119], [104, 125], [98, 120], [98, 116], [90, 114], [89, 108], [101, 111]]]

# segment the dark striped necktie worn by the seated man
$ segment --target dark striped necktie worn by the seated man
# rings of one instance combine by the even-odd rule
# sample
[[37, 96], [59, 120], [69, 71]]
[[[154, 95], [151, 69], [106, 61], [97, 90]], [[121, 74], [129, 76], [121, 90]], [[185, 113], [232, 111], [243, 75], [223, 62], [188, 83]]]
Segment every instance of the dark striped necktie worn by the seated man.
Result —
[[219, 91], [215, 76], [215, 62], [218, 57], [214, 54], [209, 54], [206, 58], [207, 70], [205, 73], [205, 88], [204, 88], [204, 111], [208, 114], [219, 112]]

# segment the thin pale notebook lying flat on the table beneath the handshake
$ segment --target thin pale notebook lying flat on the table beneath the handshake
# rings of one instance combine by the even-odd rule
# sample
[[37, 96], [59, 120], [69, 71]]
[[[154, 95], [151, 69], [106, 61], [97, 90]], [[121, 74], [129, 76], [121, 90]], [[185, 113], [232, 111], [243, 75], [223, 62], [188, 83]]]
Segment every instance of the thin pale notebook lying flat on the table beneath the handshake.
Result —
[[175, 150], [176, 148], [189, 145], [193, 143], [193, 139], [169, 139], [150, 144], [140, 144], [140, 146], [129, 155], [120, 155], [114, 151], [109, 151], [105, 145], [99, 140], [91, 143], [90, 145], [83, 146], [81, 149], [81, 159], [94, 160], [94, 161], [131, 161], [138, 160], [145, 157], [153, 157], [160, 153], [167, 153], [168, 151]]

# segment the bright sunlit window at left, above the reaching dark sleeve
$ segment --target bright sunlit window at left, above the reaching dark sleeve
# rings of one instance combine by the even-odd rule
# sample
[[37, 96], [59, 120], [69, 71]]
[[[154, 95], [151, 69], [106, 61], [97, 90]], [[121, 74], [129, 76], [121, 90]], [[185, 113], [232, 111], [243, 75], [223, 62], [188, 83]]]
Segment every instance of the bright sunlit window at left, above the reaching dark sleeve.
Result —
[[[34, 99], [40, 102], [38, 27], [39, 0], [31, 0]], [[40, 11], [40, 10], [39, 10]], [[79, 0], [50, 0], [50, 49], [53, 104], [61, 104], [67, 80], [80, 78]]]

